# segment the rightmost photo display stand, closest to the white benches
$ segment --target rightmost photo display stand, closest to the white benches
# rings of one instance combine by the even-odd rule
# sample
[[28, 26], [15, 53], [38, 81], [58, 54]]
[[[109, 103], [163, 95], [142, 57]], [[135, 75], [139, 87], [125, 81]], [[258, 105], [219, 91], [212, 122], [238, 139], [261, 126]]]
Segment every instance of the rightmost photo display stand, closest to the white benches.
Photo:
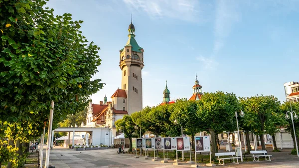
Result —
[[212, 164], [212, 156], [211, 156], [211, 142], [210, 142], [210, 136], [194, 136], [195, 140], [195, 165], [192, 165], [192, 167], [197, 167], [197, 158], [196, 153], [199, 152], [209, 152], [210, 153], [210, 163], [206, 164], [208, 167], [214, 167], [215, 164]]

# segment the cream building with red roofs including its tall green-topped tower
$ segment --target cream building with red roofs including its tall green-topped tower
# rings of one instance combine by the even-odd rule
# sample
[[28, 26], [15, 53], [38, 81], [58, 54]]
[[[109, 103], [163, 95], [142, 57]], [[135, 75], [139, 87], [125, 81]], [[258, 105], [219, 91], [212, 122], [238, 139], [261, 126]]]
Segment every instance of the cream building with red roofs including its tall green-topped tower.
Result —
[[120, 50], [119, 66], [122, 70], [121, 88], [111, 96], [111, 101], [100, 104], [90, 104], [86, 118], [86, 127], [104, 127], [112, 131], [116, 137], [120, 133], [116, 130], [115, 121], [122, 119], [124, 115], [130, 115], [143, 108], [142, 95], [142, 69], [144, 67], [144, 49], [135, 39], [135, 26], [129, 25], [128, 41]]

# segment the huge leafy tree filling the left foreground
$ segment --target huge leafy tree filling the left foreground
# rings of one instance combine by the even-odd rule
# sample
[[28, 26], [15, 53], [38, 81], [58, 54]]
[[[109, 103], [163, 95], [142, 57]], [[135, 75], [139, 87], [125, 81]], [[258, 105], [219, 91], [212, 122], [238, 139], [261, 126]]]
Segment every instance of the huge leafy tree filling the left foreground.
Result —
[[[91, 80], [101, 64], [100, 48], [82, 35], [83, 21], [73, 21], [67, 13], [54, 17], [45, 4], [0, 0], [0, 121], [8, 123], [4, 132], [13, 130], [5, 134], [8, 144], [39, 137], [52, 100], [55, 126], [67, 114], [83, 110], [89, 96], [103, 86], [100, 79]], [[26, 132], [19, 134], [21, 129], [11, 125]]]

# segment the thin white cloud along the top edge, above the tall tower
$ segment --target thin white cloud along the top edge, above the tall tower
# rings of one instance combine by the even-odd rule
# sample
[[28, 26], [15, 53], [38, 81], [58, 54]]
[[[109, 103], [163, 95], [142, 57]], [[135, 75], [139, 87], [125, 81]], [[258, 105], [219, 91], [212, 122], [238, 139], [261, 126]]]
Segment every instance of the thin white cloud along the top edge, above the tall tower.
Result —
[[152, 18], [170, 17], [187, 21], [199, 19], [198, 0], [124, 0], [139, 12], [145, 11]]

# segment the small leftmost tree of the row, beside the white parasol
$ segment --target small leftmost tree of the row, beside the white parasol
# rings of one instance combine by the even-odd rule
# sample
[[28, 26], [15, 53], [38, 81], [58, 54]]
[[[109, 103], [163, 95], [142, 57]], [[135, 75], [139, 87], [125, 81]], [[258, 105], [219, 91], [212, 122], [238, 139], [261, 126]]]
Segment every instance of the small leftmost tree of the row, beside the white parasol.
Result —
[[117, 130], [124, 131], [124, 128], [125, 128], [124, 136], [125, 136], [125, 138], [128, 138], [130, 141], [129, 152], [131, 152], [132, 151], [132, 138], [139, 137], [139, 133], [135, 129], [135, 123], [132, 121], [131, 116], [125, 115], [122, 119], [117, 120], [115, 122], [115, 126], [116, 126]]

